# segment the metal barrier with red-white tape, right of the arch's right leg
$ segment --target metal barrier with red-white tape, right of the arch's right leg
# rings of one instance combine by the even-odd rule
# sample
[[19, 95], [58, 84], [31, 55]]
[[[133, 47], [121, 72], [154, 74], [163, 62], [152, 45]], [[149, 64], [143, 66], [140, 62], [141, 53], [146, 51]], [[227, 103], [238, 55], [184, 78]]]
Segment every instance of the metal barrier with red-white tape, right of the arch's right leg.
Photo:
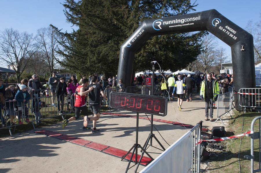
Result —
[[261, 108], [261, 89], [258, 88], [241, 88], [239, 94], [239, 106], [244, 108], [244, 112], [247, 108], [252, 111], [255, 108]]

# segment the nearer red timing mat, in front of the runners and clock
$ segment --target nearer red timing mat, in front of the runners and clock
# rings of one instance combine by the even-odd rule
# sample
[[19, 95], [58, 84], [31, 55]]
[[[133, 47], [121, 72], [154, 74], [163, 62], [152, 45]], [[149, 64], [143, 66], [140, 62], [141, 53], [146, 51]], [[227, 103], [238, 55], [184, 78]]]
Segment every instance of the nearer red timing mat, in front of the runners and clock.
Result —
[[[121, 158], [125, 154], [127, 154], [127, 151], [124, 151], [124, 150], [121, 150], [121, 149], [118, 149], [118, 148], [99, 144], [99, 143], [92, 142], [92, 141], [89, 141], [89, 140], [84, 140], [84, 139], [81, 139], [81, 138], [76, 138], [76, 137], [69, 136], [69, 135], [64, 135], [62, 133], [57, 133], [55, 131], [49, 131], [49, 130], [42, 129], [42, 130], [39, 130], [39, 131], [35, 131], [35, 133], [50, 136], [52, 138], [57, 138], [57, 139], [60, 139], [60, 140], [65, 140], [67, 142], [71, 142], [71, 143], [74, 143], [74, 144], [78, 144], [80, 146], [91, 148], [91, 149], [94, 149], [96, 151], [100, 151], [102, 153], [109, 154], [109, 155], [112, 155], [112, 156], [115, 156], [115, 157]], [[129, 153], [125, 157], [125, 160], [129, 161], [131, 155], [132, 155], [132, 153]], [[139, 159], [140, 159], [140, 155], [137, 156], [138, 161], [139, 161]], [[135, 161], [135, 154], [134, 154], [134, 157], [132, 158], [132, 161]], [[151, 159], [149, 157], [143, 156], [140, 164], [146, 166], [150, 161], [151, 161]]]

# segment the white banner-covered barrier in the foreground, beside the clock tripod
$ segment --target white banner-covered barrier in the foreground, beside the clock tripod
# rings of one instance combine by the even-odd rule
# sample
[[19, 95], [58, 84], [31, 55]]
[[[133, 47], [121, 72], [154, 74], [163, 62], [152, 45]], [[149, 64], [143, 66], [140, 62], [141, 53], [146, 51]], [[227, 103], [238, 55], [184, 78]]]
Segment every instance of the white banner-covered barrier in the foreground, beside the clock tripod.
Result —
[[198, 123], [140, 173], [199, 173], [201, 126]]

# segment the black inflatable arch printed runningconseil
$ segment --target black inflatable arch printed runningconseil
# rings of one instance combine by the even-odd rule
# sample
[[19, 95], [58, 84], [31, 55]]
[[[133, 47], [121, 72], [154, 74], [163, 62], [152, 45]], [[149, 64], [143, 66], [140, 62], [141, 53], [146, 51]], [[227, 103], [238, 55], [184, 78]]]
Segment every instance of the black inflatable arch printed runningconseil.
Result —
[[[121, 45], [117, 78], [122, 78], [125, 86], [131, 85], [134, 54], [150, 37], [203, 30], [209, 31], [231, 47], [234, 91], [255, 88], [253, 36], [214, 9], [144, 20]], [[235, 95], [235, 106], [240, 110], [238, 95]]]

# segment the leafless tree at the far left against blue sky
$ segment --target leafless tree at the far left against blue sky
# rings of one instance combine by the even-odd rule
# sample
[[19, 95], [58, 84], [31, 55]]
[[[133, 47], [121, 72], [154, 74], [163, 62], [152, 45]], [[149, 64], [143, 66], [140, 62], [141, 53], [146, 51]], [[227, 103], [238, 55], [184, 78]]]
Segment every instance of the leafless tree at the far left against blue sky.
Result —
[[34, 41], [33, 34], [19, 33], [12, 28], [0, 33], [0, 61], [14, 69], [18, 83], [30, 58], [38, 50]]

